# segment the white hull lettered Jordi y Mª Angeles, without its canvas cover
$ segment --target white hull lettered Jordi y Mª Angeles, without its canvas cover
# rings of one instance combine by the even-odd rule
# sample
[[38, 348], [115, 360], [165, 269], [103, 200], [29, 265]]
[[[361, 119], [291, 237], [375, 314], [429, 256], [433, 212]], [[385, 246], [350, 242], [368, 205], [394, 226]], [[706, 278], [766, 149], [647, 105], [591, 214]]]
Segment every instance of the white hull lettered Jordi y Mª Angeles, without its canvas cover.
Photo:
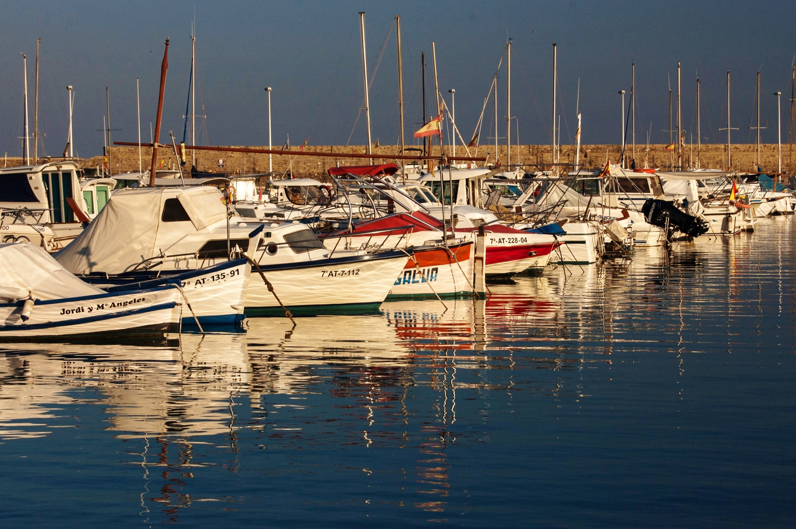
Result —
[[23, 302], [0, 303], [0, 341], [163, 339], [180, 329], [180, 293], [174, 286], [36, 301], [27, 321], [21, 317]]

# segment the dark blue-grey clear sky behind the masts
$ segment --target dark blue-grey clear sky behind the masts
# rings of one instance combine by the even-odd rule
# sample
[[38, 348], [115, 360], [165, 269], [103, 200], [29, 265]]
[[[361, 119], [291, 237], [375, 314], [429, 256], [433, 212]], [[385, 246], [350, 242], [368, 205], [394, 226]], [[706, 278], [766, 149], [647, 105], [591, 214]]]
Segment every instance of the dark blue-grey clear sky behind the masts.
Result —
[[[558, 44], [561, 142], [574, 139], [580, 79], [583, 142], [619, 142], [620, 96], [630, 93], [636, 64], [636, 140], [668, 142], [668, 88], [677, 96], [682, 63], [682, 116], [696, 134], [696, 72], [702, 81], [704, 142], [724, 142], [727, 70], [732, 71], [733, 142], [754, 142], [755, 73], [762, 65], [763, 142], [776, 142], [776, 98], [782, 91], [783, 141], [790, 117], [790, 64], [796, 53], [796, 2], [2, 2], [0, 3], [0, 151], [19, 155], [22, 135], [22, 60], [28, 55], [33, 130], [33, 57], [41, 37], [39, 121], [45, 152], [66, 142], [66, 85], [76, 90], [75, 147], [102, 151], [105, 87], [111, 91], [115, 141], [135, 141], [135, 78], [141, 83], [142, 138], [149, 139], [158, 98], [163, 43], [170, 37], [169, 75], [161, 140], [181, 138], [188, 91], [190, 26], [196, 7], [197, 143], [267, 145], [271, 86], [274, 143], [366, 141], [357, 11], [366, 11], [369, 69], [401, 15], [407, 142], [419, 105], [420, 52], [436, 42], [440, 91], [456, 89], [457, 122], [472, 134], [506, 35], [513, 39], [512, 114], [522, 143], [548, 143], [552, 122], [552, 42]], [[373, 138], [398, 140], [395, 29], [384, 47], [370, 92]], [[498, 92], [505, 136], [505, 63]], [[450, 103], [450, 102], [449, 102]], [[202, 114], [197, 105], [197, 114]], [[429, 107], [431, 108], [431, 106]], [[492, 119], [491, 104], [486, 119]], [[515, 125], [516, 126], [516, 125]], [[100, 130], [96, 130], [100, 129]], [[352, 133], [353, 130], [353, 134]], [[516, 134], [513, 128], [513, 135]], [[482, 142], [485, 142], [485, 130]], [[491, 134], [489, 134], [491, 135]], [[571, 139], [572, 138], [572, 139]], [[501, 140], [505, 142], [505, 140]], [[515, 138], [513, 138], [515, 142]], [[2, 154], [0, 152], [0, 154]]]

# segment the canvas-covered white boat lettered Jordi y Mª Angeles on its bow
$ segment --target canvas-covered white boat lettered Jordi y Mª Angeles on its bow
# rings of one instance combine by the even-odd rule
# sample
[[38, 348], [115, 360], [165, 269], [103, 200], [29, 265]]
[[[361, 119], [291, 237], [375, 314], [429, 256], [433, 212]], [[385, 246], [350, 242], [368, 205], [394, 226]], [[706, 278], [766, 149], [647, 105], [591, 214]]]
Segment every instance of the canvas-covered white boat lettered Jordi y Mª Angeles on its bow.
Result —
[[175, 286], [108, 293], [29, 243], [0, 244], [0, 278], [2, 341], [162, 340], [179, 332]]

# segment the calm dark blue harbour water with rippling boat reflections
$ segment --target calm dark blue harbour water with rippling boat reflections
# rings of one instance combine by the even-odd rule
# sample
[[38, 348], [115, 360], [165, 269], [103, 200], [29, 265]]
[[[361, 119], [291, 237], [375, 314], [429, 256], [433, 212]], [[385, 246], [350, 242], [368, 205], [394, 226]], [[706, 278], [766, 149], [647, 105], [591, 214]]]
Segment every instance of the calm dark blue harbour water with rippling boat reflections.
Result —
[[5, 346], [4, 527], [793, 527], [796, 221], [486, 305]]

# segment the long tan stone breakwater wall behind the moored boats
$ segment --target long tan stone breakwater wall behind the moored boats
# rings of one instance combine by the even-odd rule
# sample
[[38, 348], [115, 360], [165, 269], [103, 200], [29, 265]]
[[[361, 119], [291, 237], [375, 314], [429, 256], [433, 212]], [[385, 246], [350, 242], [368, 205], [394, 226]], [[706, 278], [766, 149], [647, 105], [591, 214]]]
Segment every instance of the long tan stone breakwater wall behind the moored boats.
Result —
[[[263, 149], [263, 146], [247, 146], [249, 148]], [[279, 147], [276, 147], [277, 149]], [[645, 165], [645, 158], [647, 165], [650, 167], [667, 168], [670, 160], [673, 160], [677, 165], [677, 154], [671, 154], [665, 150], [665, 145], [651, 145], [650, 150], [645, 152], [646, 147], [643, 145], [636, 146], [636, 166], [641, 168]], [[298, 148], [293, 147], [298, 153]], [[492, 165], [495, 161], [494, 146], [480, 146], [478, 150], [470, 148], [470, 154], [473, 156], [486, 157], [486, 164]], [[290, 169], [296, 176], [302, 177], [321, 177], [326, 175], [326, 169], [334, 165], [365, 165], [368, 163], [367, 158], [346, 158], [345, 154], [366, 154], [365, 146], [308, 146], [308, 152], [318, 152], [328, 154], [328, 156], [314, 157], [314, 156], [293, 156], [274, 154], [273, 155], [273, 170], [279, 173], [285, 173]], [[450, 152], [446, 147], [446, 151]], [[617, 162], [622, 151], [622, 146], [618, 145], [587, 145], [580, 148], [580, 160], [585, 163], [587, 167], [597, 168], [605, 164], [606, 159], [612, 162]], [[796, 151], [796, 149], [794, 149]], [[142, 147], [142, 167], [144, 170], [149, 169], [152, 159], [152, 150], [150, 147]], [[388, 163], [395, 161], [390, 156], [399, 154], [400, 147], [398, 146], [380, 146], [373, 150], [373, 163]], [[435, 147], [434, 154], [439, 153], [439, 147]], [[511, 162], [513, 164], [522, 163], [527, 165], [529, 170], [535, 168], [549, 169], [549, 164], [552, 161], [552, 148], [551, 146], [540, 145], [521, 145], [512, 146], [511, 148]], [[560, 161], [574, 161], [575, 146], [564, 145], [560, 146]], [[407, 154], [413, 154], [412, 151]], [[458, 156], [466, 156], [466, 150], [462, 146], [457, 146], [456, 154]], [[732, 169], [742, 171], [755, 171], [755, 160], [757, 158], [757, 146], [755, 144], [738, 144], [732, 146]], [[252, 153], [230, 153], [230, 152], [214, 152], [207, 150], [197, 150], [197, 168], [200, 171], [209, 171], [217, 173], [266, 173], [268, 171], [268, 155], [267, 154], [252, 154]], [[633, 158], [632, 147], [627, 146], [625, 151], [626, 163], [630, 166], [630, 160]], [[727, 168], [727, 146], [720, 144], [703, 145], [700, 155], [700, 166], [710, 169], [726, 169]], [[57, 159], [57, 158], [53, 158]], [[190, 165], [190, 153], [188, 153]], [[505, 164], [506, 149], [505, 145], [498, 146], [497, 159]], [[223, 161], [223, 167], [219, 167], [219, 162]], [[683, 150], [683, 165], [686, 167], [692, 166], [696, 162], [696, 146], [685, 146]], [[788, 173], [796, 172], [796, 152], [793, 153], [792, 161], [789, 169], [790, 155], [788, 146], [782, 146], [782, 171]], [[162, 162], [162, 165], [161, 165]], [[8, 166], [21, 165], [21, 158], [7, 158], [6, 164]], [[127, 173], [130, 171], [139, 170], [139, 149], [138, 147], [131, 146], [114, 146], [111, 147], [110, 155], [111, 171], [112, 173]], [[173, 149], [158, 149], [158, 169], [171, 169], [177, 167], [177, 158], [174, 156]], [[545, 166], [545, 164], [548, 164]], [[81, 161], [87, 169], [102, 166], [103, 157], [97, 156], [88, 158]], [[474, 162], [474, 165], [484, 165], [484, 162]], [[777, 170], [777, 146], [776, 144], [765, 144], [760, 146], [760, 165], [763, 171], [767, 173], [774, 173]]]

